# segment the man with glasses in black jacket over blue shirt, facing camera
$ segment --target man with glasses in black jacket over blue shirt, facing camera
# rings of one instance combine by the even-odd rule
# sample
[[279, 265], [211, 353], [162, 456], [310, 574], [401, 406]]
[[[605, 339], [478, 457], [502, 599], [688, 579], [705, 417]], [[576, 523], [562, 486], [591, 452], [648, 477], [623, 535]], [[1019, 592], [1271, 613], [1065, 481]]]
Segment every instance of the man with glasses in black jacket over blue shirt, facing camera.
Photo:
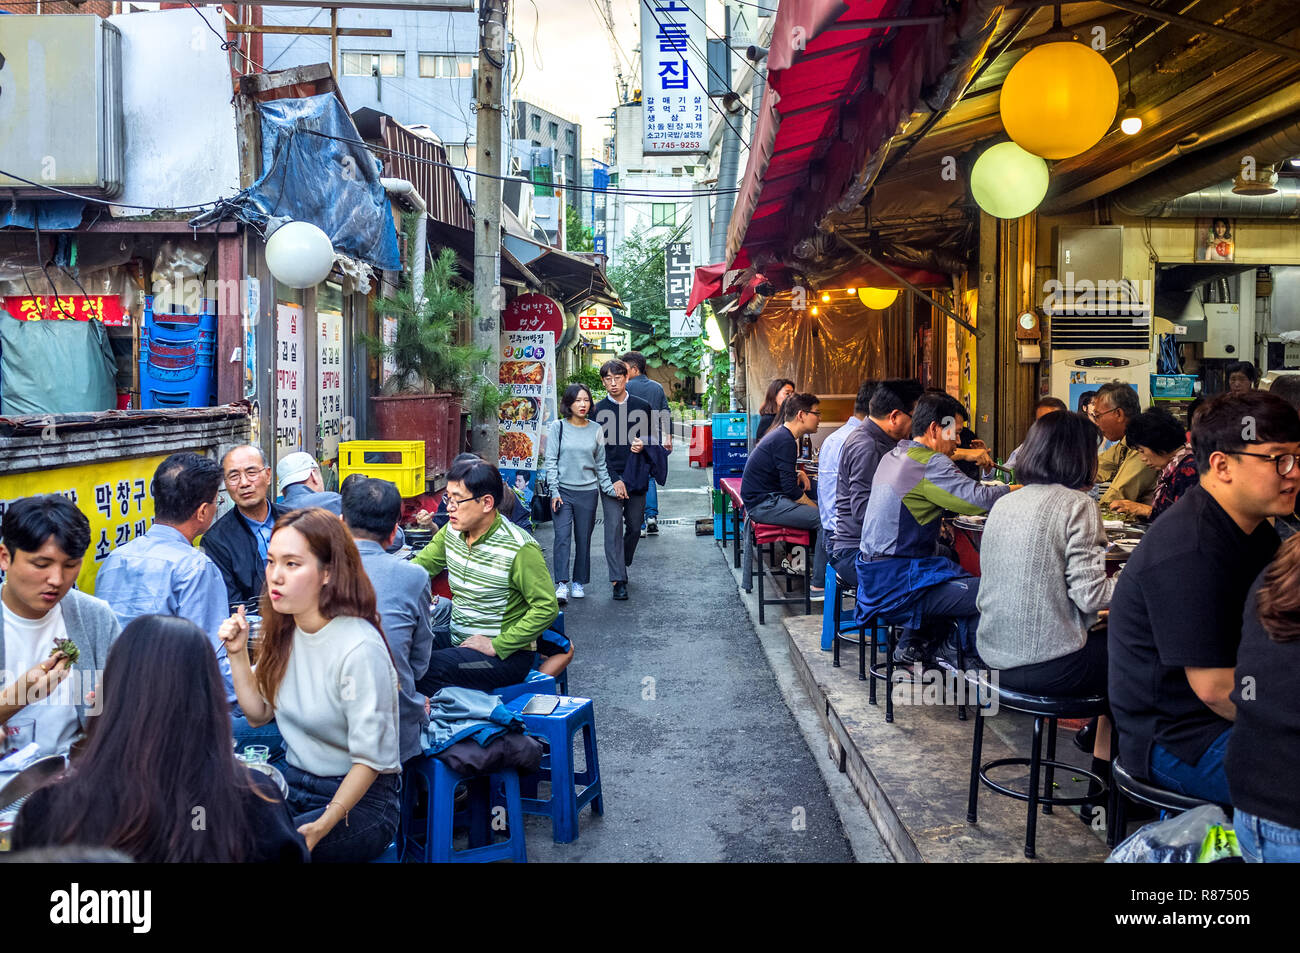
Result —
[[257, 447], [244, 445], [228, 452], [221, 472], [235, 508], [213, 523], [199, 545], [221, 569], [230, 605], [252, 606], [266, 577], [270, 530], [289, 511], [268, 499], [270, 467]]

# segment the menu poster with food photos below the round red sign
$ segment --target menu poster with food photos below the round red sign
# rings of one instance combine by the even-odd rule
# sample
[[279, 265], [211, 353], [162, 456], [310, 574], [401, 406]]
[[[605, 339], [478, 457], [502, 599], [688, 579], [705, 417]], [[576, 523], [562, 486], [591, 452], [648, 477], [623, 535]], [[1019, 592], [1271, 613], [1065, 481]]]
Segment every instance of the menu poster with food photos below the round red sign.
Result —
[[546, 425], [555, 419], [555, 334], [500, 335], [500, 384], [510, 391], [498, 412], [502, 469], [536, 471]]

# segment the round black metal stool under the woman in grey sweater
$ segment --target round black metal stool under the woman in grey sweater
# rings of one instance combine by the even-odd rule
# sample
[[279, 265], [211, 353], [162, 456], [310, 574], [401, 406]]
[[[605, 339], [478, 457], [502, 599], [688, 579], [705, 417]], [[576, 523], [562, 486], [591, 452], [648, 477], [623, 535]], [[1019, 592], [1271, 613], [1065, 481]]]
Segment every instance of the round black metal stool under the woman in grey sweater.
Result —
[[[1019, 711], [1026, 715], [1034, 715], [1034, 742], [1030, 749], [1028, 758], [998, 758], [997, 761], [991, 761], [980, 764], [980, 751], [984, 748], [984, 703], [975, 707], [975, 740], [971, 746], [971, 787], [970, 787], [970, 801], [966, 806], [966, 820], [971, 824], [976, 823], [978, 811], [978, 798], [979, 798], [979, 785], [983, 783], [998, 794], [1005, 794], [1006, 797], [1014, 797], [1017, 801], [1027, 801], [1030, 805], [1028, 816], [1024, 824], [1024, 855], [1034, 859], [1034, 845], [1035, 836], [1037, 833], [1039, 823], [1039, 805], [1043, 806], [1044, 814], [1050, 814], [1054, 805], [1082, 805], [1089, 801], [1096, 802], [1102, 796], [1106, 794], [1106, 783], [1095, 775], [1092, 771], [1086, 771], [1082, 767], [1075, 767], [1074, 764], [1067, 764], [1061, 761], [1056, 761], [1056, 729], [1057, 719], [1061, 718], [1096, 718], [1106, 712], [1106, 699], [1104, 696], [1084, 696], [1082, 698], [1049, 698], [1046, 696], [1034, 696], [1024, 694], [1022, 692], [1011, 692], [1010, 689], [1000, 688], [988, 680], [987, 675], [980, 675], [979, 688], [987, 693], [997, 693], [998, 706], [1008, 709], [1009, 711]], [[989, 697], [989, 696], [985, 696]], [[1048, 757], [1043, 757], [1043, 723], [1048, 723]], [[1006, 767], [1009, 764], [1015, 764], [1019, 767], [1028, 766], [1030, 768], [1030, 789], [1028, 793], [1020, 790], [1013, 790], [988, 776], [988, 772], [997, 767]], [[1046, 768], [1046, 777], [1043, 779], [1043, 789], [1052, 790], [1052, 777], [1056, 768], [1062, 771], [1069, 771], [1075, 775], [1084, 775], [1088, 780], [1097, 785], [1096, 794], [1086, 794], [1083, 797], [1053, 797], [1052, 794], [1040, 794], [1039, 779], [1043, 774], [1043, 768]]]

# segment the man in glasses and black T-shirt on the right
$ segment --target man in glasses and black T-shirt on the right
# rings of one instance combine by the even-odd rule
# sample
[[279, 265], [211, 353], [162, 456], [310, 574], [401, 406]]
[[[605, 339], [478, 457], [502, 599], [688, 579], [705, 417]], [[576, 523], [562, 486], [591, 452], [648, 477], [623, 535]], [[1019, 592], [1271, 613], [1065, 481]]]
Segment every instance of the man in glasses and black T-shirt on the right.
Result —
[[[1100, 398], [1100, 394], [1098, 394]], [[1110, 706], [1134, 775], [1230, 803], [1223, 755], [1242, 615], [1295, 508], [1300, 416], [1275, 394], [1221, 394], [1192, 428], [1200, 484], [1153, 523], [1110, 605]]]

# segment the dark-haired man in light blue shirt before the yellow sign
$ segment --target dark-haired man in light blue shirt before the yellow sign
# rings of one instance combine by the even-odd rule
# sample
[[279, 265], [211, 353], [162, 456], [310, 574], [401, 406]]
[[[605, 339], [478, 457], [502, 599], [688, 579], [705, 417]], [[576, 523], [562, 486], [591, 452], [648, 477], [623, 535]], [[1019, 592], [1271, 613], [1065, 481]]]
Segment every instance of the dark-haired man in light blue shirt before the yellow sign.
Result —
[[208, 633], [226, 681], [226, 646], [217, 632], [230, 615], [221, 569], [194, 541], [217, 516], [221, 465], [198, 454], [172, 454], [153, 472], [153, 525], [118, 546], [99, 569], [95, 594], [113, 607], [122, 628], [142, 615], [176, 615]]

